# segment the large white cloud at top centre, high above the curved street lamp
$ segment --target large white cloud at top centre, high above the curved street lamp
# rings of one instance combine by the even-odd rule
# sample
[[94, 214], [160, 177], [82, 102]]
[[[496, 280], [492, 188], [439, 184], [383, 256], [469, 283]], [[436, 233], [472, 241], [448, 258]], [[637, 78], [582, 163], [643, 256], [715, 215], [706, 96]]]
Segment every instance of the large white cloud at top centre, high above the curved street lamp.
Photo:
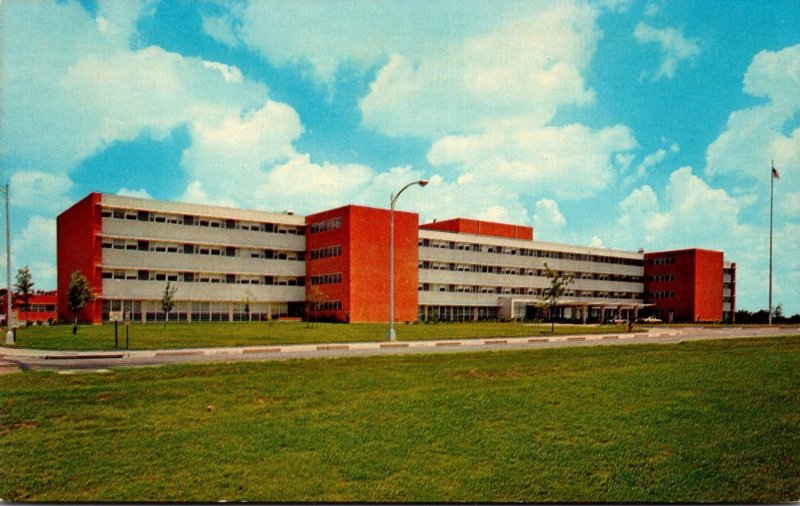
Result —
[[590, 6], [558, 2], [435, 53], [394, 54], [359, 102], [363, 123], [429, 138], [500, 120], [544, 125], [560, 106], [594, 101], [582, 72], [600, 37], [596, 18]]

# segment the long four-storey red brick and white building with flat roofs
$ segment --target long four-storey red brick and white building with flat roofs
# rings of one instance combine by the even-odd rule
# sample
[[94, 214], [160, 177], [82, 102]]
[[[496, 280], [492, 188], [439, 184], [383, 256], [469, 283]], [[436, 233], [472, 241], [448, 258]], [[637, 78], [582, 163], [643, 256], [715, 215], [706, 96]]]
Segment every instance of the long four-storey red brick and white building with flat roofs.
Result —
[[[91, 193], [61, 213], [59, 317], [72, 272], [96, 299], [84, 322], [255, 321], [315, 317], [385, 322], [390, 211], [357, 205], [309, 216]], [[394, 212], [394, 315], [414, 320], [532, 318], [549, 285], [570, 274], [560, 318], [731, 321], [736, 264], [703, 249], [622, 251], [534, 240], [533, 229], [456, 218], [419, 224]]]

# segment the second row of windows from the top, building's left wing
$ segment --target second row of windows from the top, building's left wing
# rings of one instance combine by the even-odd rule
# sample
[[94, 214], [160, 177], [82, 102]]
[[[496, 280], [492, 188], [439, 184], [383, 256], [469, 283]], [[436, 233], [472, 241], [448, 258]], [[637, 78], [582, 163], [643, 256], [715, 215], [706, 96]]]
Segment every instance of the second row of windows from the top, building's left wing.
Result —
[[103, 238], [103, 248], [158, 253], [184, 253], [187, 255], [213, 255], [239, 258], [266, 258], [279, 260], [305, 260], [304, 251], [276, 251], [260, 248], [234, 248], [232, 246], [209, 246], [163, 241], [140, 241], [136, 239]]

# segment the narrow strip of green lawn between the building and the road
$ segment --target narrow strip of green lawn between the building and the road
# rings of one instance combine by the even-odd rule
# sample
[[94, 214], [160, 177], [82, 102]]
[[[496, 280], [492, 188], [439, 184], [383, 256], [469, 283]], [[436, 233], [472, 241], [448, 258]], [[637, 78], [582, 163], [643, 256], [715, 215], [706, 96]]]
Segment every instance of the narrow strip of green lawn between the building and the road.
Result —
[[[161, 323], [131, 324], [130, 349], [192, 348], [207, 346], [253, 346], [327, 342], [382, 341], [386, 324], [380, 323]], [[399, 340], [450, 339], [464, 337], [531, 336], [550, 333], [548, 324], [523, 323], [440, 323], [396, 326]], [[558, 334], [622, 332], [624, 325], [558, 325]], [[125, 347], [125, 326], [118, 326], [119, 345]], [[32, 326], [17, 331], [18, 348], [50, 350], [114, 349], [114, 325], [82, 325], [72, 335], [70, 325]]]

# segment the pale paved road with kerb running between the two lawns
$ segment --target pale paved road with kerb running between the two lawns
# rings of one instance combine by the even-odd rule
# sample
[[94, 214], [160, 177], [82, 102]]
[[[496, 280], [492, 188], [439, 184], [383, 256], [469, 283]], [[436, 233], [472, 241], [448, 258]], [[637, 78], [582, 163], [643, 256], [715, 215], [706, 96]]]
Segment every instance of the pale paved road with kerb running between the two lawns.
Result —
[[114, 352], [69, 352], [0, 347], [0, 374], [33, 369], [63, 372], [102, 370], [112, 367], [153, 366], [170, 363], [288, 360], [343, 356], [398, 355], [411, 353], [457, 353], [565, 346], [610, 346], [638, 343], [675, 343], [700, 339], [796, 335], [798, 327], [654, 327], [644, 333], [586, 334], [570, 336], [494, 337], [440, 339], [431, 341], [294, 344], [237, 348], [191, 348], [171, 350], [121, 350]]

